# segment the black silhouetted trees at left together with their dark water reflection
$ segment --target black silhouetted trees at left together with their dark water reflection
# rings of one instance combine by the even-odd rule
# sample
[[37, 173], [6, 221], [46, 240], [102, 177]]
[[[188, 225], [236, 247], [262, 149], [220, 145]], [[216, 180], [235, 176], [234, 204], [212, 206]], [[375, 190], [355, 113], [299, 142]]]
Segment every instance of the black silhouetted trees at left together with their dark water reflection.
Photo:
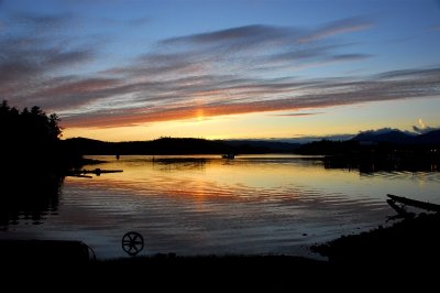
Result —
[[55, 211], [68, 152], [61, 144], [59, 118], [40, 107], [19, 111], [0, 105], [0, 228], [21, 220], [40, 224]]

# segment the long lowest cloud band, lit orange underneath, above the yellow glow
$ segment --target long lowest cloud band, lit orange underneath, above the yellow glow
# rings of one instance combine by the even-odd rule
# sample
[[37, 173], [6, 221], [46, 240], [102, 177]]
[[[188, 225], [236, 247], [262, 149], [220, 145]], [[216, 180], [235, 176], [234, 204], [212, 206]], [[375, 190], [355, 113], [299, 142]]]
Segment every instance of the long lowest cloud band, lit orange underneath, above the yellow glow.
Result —
[[[189, 90], [176, 85], [168, 88], [172, 93], [157, 97], [140, 95], [133, 99], [138, 107], [121, 111], [112, 110], [111, 119], [108, 111], [95, 111], [75, 117], [66, 117], [67, 124], [85, 126], [128, 126], [143, 122], [190, 119], [202, 109], [206, 117], [265, 112], [280, 110], [322, 109], [332, 106], [352, 105], [369, 101], [397, 100], [420, 98], [440, 94], [440, 68], [436, 70], [413, 70], [410, 78], [402, 79], [400, 74], [389, 77], [365, 80], [316, 80], [295, 83], [292, 80], [248, 80], [240, 86], [224, 87], [215, 91]], [[399, 80], [396, 80], [398, 78]], [[262, 85], [258, 83], [262, 82]], [[138, 85], [139, 88], [143, 86]], [[148, 87], [148, 85], [144, 85]], [[157, 86], [157, 85], [156, 85]], [[162, 85], [165, 86], [165, 85]], [[211, 84], [208, 88], [215, 87]], [[132, 85], [134, 87], [134, 85]], [[153, 89], [152, 85], [150, 85]], [[161, 86], [158, 86], [161, 87]], [[197, 86], [195, 86], [197, 88]], [[118, 89], [118, 87], [117, 87]], [[145, 89], [145, 88], [143, 88]], [[298, 94], [301, 93], [301, 94]], [[206, 94], [206, 95], [205, 95]], [[197, 100], [197, 97], [202, 97]], [[152, 97], [154, 97], [152, 99]], [[143, 106], [142, 106], [143, 105]], [[311, 115], [311, 113], [310, 113]], [[110, 121], [111, 120], [111, 121]]]

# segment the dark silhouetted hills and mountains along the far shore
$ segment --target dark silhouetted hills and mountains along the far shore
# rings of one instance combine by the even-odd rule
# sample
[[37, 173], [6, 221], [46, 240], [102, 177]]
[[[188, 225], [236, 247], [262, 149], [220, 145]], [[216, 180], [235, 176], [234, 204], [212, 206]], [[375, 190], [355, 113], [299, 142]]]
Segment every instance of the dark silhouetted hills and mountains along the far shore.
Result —
[[[364, 131], [358, 135], [334, 135], [308, 138], [299, 143], [299, 139], [271, 140], [205, 140], [161, 138], [152, 141], [105, 142], [92, 139], [75, 138], [64, 140], [63, 143], [78, 154], [221, 154], [221, 153], [293, 153], [299, 149], [307, 149], [310, 142], [334, 141], [350, 143], [352, 141], [394, 143], [402, 145], [440, 144], [440, 130], [432, 130], [424, 134], [403, 132], [396, 129], [381, 129]], [[322, 143], [321, 143], [322, 144]], [[333, 143], [334, 144], [334, 143]], [[334, 145], [333, 145], [334, 146]], [[329, 145], [320, 145], [320, 151]], [[323, 149], [322, 149], [323, 148]], [[327, 148], [327, 149], [326, 149]], [[352, 148], [352, 146], [350, 146]]]

